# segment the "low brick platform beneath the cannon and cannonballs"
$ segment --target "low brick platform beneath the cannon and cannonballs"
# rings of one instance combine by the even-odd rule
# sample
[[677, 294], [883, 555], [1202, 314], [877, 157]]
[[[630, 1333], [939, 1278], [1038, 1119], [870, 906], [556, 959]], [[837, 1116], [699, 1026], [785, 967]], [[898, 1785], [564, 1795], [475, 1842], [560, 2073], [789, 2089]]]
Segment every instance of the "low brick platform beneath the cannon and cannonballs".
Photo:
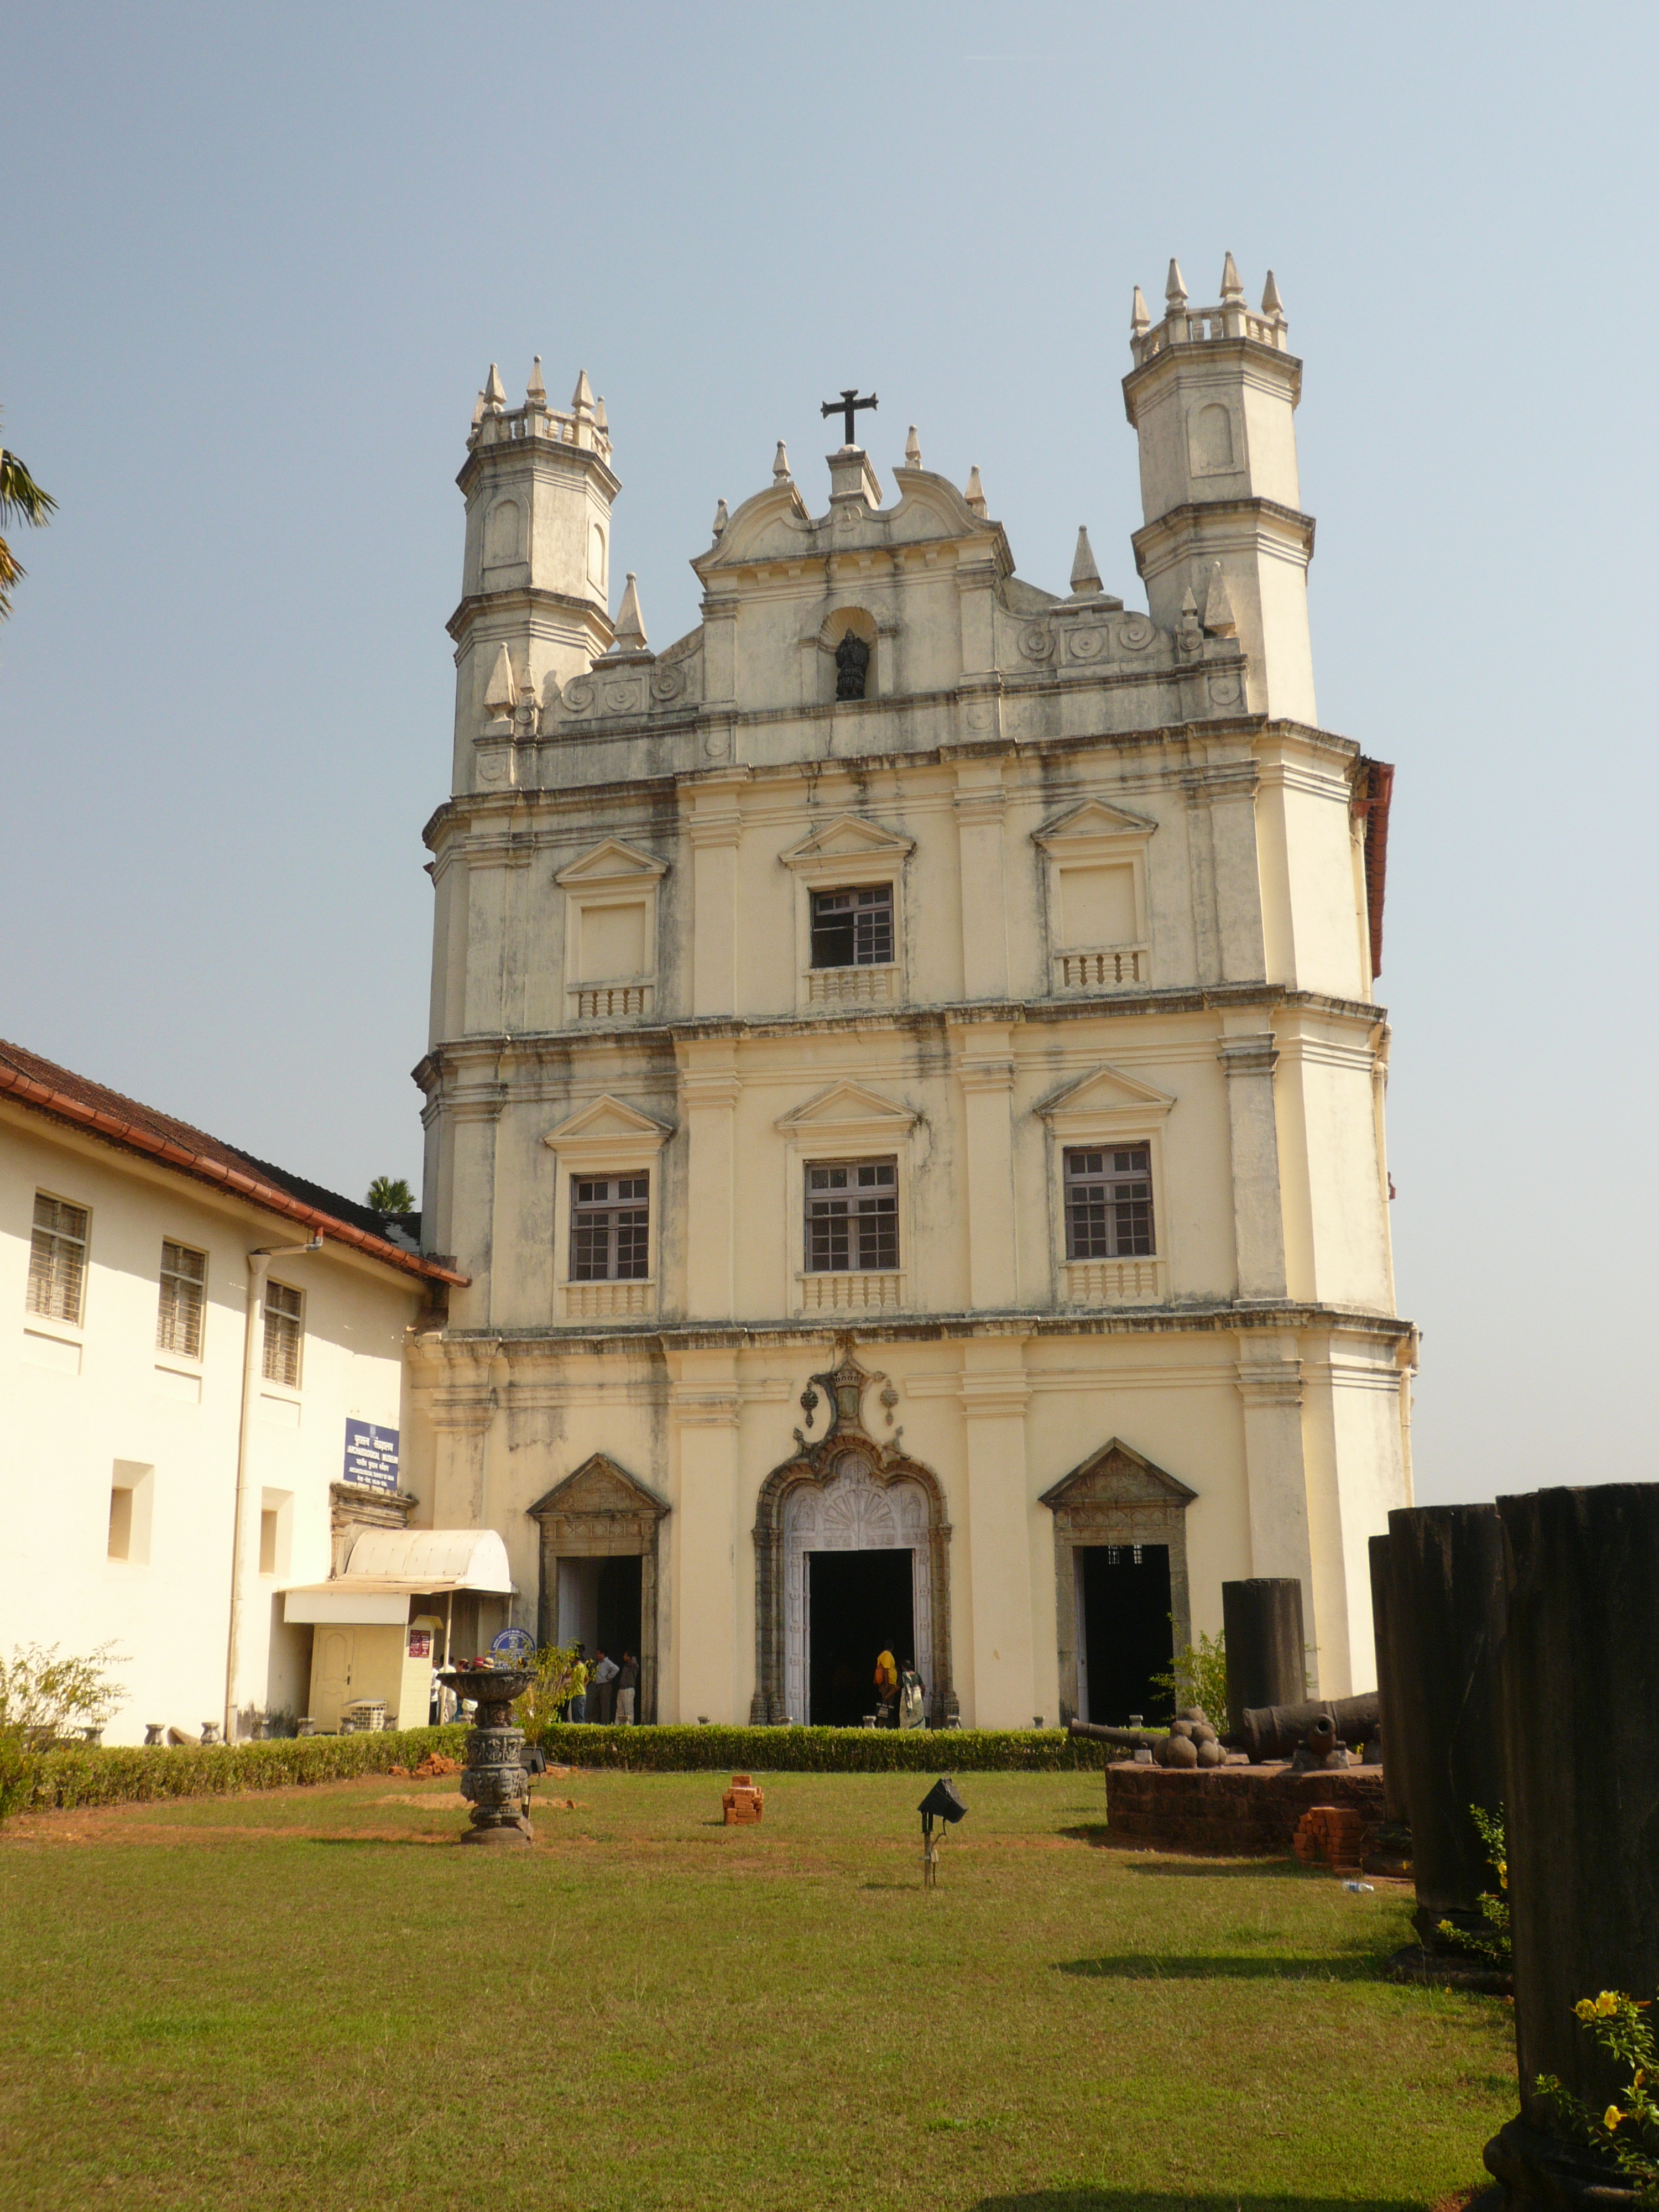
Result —
[[1354, 1812], [1365, 1840], [1383, 1825], [1383, 1767], [1106, 1767], [1113, 1843], [1219, 1858], [1290, 1858], [1314, 1807]]

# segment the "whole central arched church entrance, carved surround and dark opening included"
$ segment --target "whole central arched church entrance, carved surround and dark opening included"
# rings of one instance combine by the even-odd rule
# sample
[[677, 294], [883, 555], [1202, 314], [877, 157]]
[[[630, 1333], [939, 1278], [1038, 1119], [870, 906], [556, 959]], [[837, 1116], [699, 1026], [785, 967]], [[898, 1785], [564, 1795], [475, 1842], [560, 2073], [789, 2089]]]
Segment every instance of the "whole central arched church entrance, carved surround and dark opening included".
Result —
[[[898, 1438], [863, 1425], [867, 1374], [843, 1340], [830, 1387], [830, 1429], [761, 1484], [754, 1515], [754, 1723], [856, 1721], [872, 1703], [883, 1646], [916, 1659], [933, 1728], [958, 1714], [951, 1681], [949, 1540], [945, 1493]], [[807, 1391], [807, 1420], [816, 1409]], [[816, 1613], [814, 1613], [816, 1606]], [[900, 1650], [900, 1644], [905, 1646]], [[865, 1650], [867, 1646], [867, 1650]], [[854, 1690], [847, 1690], [852, 1670]]]

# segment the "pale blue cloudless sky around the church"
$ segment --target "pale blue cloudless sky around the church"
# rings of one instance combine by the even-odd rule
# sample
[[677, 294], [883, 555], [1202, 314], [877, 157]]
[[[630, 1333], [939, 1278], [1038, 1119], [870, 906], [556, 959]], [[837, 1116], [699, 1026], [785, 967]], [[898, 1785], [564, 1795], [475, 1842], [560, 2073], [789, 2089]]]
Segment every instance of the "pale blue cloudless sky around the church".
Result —
[[[1659, 15], [1630, 7], [13, 0], [0, 1035], [418, 1181], [491, 361], [604, 394], [615, 577], [818, 400], [1144, 604], [1130, 285], [1272, 265], [1321, 721], [1398, 763], [1380, 995], [1425, 1502], [1652, 1475]], [[869, 418], [865, 418], [869, 420]]]

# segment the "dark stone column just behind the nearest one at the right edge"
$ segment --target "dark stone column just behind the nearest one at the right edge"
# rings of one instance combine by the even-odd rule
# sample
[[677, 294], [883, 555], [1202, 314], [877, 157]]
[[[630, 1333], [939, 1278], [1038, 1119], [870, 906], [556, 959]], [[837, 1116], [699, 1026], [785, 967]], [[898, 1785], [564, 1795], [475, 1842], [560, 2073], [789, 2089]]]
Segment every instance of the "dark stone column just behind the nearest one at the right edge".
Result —
[[[1442, 1920], [1484, 1927], [1475, 1898], [1495, 1876], [1469, 1807], [1504, 1796], [1498, 1661], [1504, 1648], [1504, 1535], [1498, 1506], [1389, 1513], [1394, 1750], [1411, 1814], [1418, 1940], [1444, 1951]], [[1455, 1947], [1453, 1947], [1455, 1949]], [[1460, 1958], [1467, 1953], [1458, 1953]]]

